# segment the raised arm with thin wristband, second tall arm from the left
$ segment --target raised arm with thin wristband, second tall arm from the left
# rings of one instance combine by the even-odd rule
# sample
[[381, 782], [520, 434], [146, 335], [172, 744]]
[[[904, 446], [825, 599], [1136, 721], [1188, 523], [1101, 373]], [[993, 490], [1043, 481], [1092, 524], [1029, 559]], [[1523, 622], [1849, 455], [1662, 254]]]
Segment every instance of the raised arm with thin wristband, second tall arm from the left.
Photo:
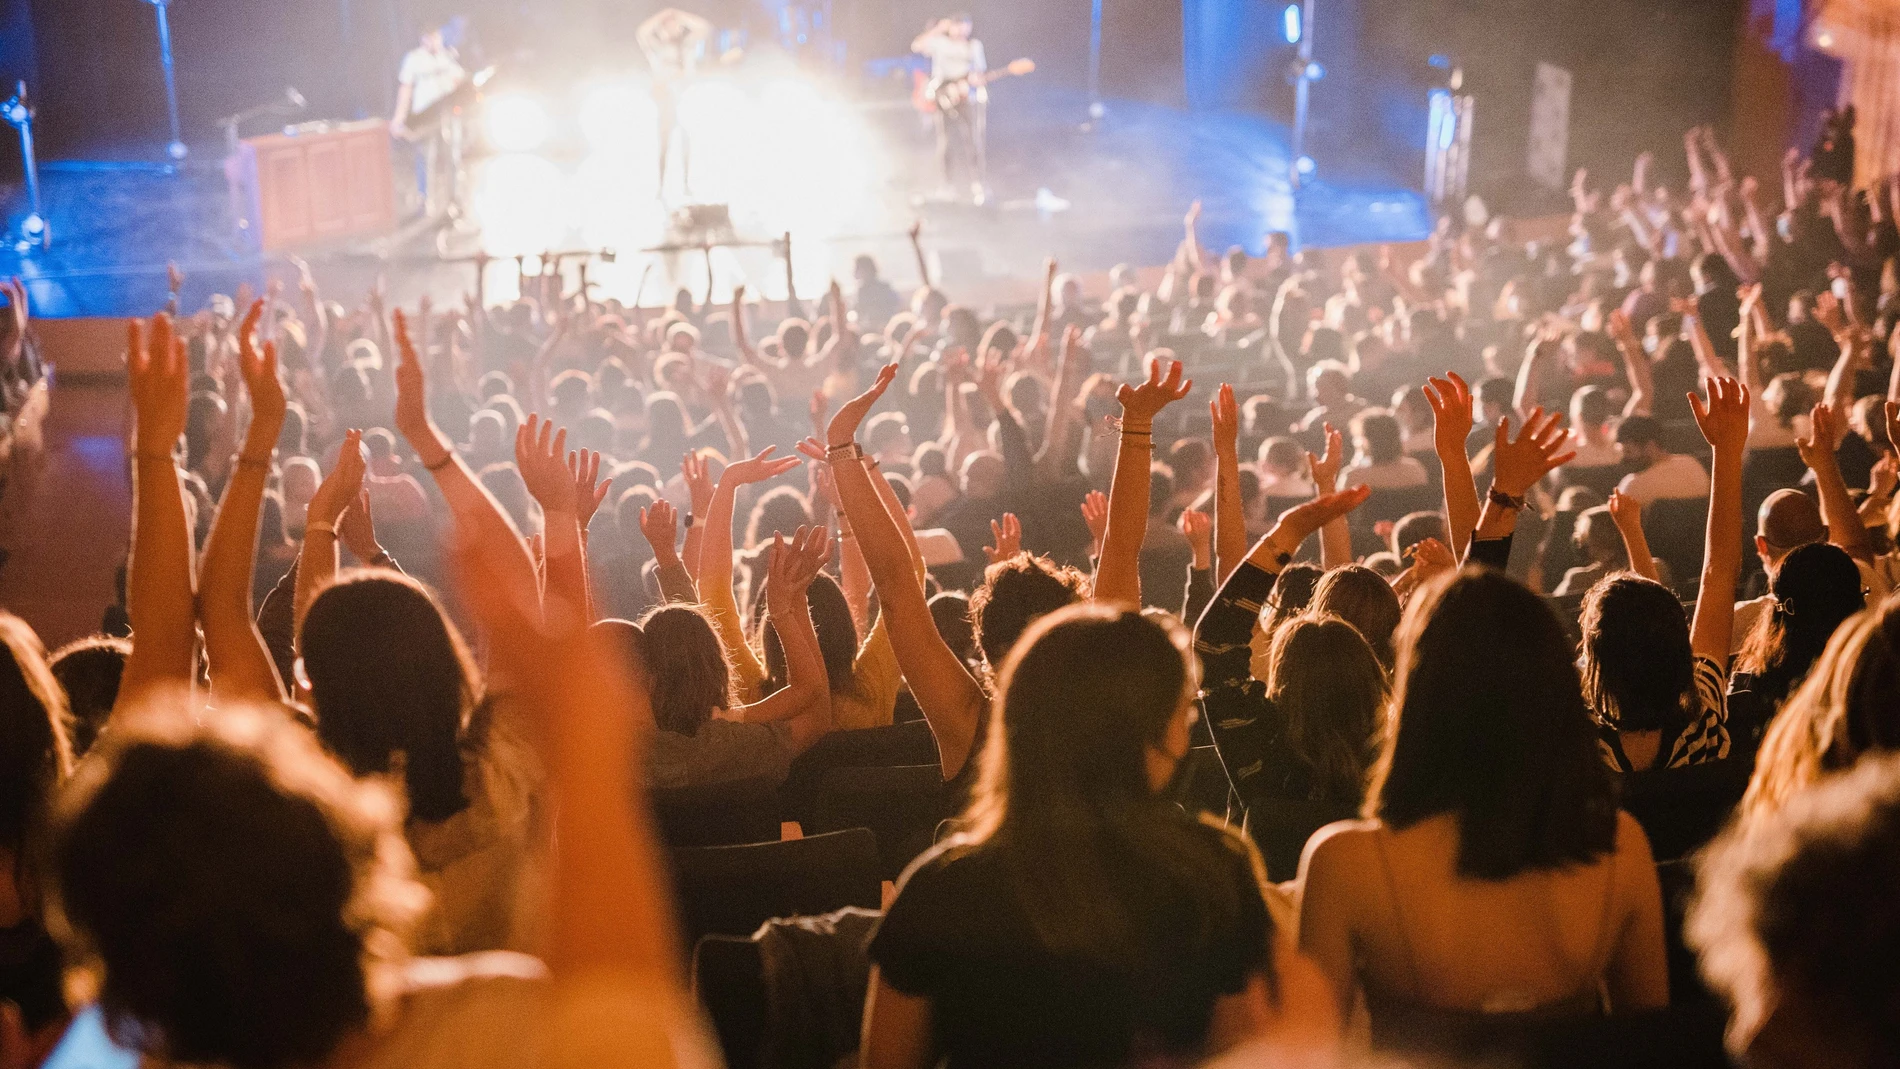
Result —
[[264, 636], [251, 617], [251, 579], [256, 564], [256, 516], [270, 480], [270, 454], [283, 429], [283, 384], [277, 380], [277, 347], [258, 351], [253, 332], [262, 302], [253, 304], [238, 328], [238, 368], [251, 395], [251, 427], [243, 452], [224, 484], [224, 499], [205, 539], [198, 619], [205, 628], [205, 663], [211, 693], [224, 701], [283, 701], [283, 682], [270, 661]]

